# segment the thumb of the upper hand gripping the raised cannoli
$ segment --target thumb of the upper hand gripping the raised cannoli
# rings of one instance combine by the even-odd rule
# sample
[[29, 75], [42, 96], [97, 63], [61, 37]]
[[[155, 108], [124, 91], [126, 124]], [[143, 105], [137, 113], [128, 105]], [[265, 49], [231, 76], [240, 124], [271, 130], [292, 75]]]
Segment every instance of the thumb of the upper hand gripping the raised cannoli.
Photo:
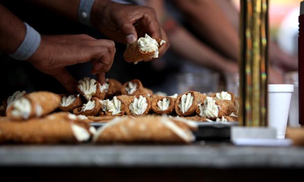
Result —
[[125, 36], [126, 42], [128, 44], [134, 43], [137, 40], [137, 32], [133, 24], [128, 19], [125, 11], [121, 11], [121, 13], [114, 13], [113, 19], [117, 23], [118, 28]]

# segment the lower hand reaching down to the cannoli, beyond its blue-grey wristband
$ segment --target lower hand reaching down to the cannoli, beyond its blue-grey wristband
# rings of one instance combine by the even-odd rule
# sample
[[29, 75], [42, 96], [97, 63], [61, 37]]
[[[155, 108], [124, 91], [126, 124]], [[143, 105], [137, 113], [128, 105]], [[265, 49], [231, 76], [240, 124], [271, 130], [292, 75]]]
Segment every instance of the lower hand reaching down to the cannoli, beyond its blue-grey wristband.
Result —
[[69, 92], [75, 91], [76, 79], [66, 66], [91, 61], [92, 74], [105, 82], [105, 72], [113, 63], [116, 49], [113, 41], [96, 40], [88, 35], [41, 36], [36, 52], [27, 60], [38, 70], [56, 78]]

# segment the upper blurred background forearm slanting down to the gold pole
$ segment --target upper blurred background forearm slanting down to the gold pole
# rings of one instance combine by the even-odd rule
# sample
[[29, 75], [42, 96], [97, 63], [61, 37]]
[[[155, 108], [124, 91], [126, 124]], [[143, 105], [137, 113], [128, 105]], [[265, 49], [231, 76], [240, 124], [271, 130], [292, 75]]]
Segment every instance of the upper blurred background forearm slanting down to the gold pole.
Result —
[[202, 36], [230, 59], [238, 58], [238, 35], [221, 8], [212, 0], [177, 0], [177, 6], [189, 17]]

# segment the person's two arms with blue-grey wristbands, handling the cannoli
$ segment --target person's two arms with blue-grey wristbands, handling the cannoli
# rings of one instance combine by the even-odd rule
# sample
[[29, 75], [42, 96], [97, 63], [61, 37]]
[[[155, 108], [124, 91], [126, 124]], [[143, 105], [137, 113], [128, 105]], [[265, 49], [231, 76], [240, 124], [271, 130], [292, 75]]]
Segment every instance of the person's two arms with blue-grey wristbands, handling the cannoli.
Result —
[[[138, 35], [150, 34], [167, 40], [154, 10], [150, 7], [124, 5], [109, 0], [31, 0], [31, 3], [80, 23], [94, 25], [110, 39], [131, 44]], [[133, 24], [140, 24], [140, 29]], [[18, 30], [18, 31], [16, 31]], [[165, 45], [160, 56], [168, 49]], [[91, 61], [92, 73], [104, 82], [104, 72], [111, 68], [115, 44], [88, 35], [40, 35], [27, 23], [0, 4], [0, 52], [26, 60], [40, 71], [52, 75], [68, 91], [75, 90], [76, 79], [66, 66]]]

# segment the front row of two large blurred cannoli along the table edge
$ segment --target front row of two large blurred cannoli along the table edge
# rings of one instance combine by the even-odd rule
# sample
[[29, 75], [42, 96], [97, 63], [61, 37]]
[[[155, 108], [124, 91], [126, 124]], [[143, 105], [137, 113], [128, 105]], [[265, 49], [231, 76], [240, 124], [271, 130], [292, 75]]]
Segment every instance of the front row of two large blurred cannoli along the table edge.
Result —
[[0, 118], [0, 143], [178, 142], [195, 140], [196, 122], [163, 116], [115, 117], [97, 131], [68, 112], [50, 114], [24, 122]]

